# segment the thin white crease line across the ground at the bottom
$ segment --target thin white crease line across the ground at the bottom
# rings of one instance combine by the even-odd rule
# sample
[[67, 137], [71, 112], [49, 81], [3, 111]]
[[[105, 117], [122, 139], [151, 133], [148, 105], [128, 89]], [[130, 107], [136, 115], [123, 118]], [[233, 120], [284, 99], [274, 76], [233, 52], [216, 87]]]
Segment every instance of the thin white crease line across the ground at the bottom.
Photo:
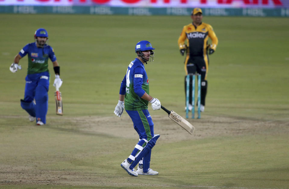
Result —
[[[0, 180], [0, 181], [4, 181], [4, 182], [48, 182], [48, 183], [61, 183], [59, 181], [12, 181], [12, 180]], [[97, 182], [64, 182], [64, 183], [79, 183], [79, 184], [99, 184]], [[103, 184], [103, 183], [102, 183]], [[118, 183], [113, 183], [113, 184], [118, 184]], [[133, 184], [119, 184], [119, 185], [132, 185], [135, 186]], [[145, 186], [171, 186], [171, 187], [207, 187], [207, 188], [248, 188], [248, 189], [283, 189], [283, 188], [252, 188], [252, 187], [227, 187], [227, 186], [191, 186], [191, 185], [164, 185], [164, 184], [142, 184]]]

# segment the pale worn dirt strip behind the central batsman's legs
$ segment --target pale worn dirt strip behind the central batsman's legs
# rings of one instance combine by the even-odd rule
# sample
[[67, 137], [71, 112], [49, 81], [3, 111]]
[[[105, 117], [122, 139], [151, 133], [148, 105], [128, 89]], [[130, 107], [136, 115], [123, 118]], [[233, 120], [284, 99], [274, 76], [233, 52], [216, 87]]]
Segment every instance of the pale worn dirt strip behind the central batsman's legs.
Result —
[[[218, 136], [238, 136], [254, 134], [278, 134], [289, 132], [287, 120], [254, 120], [236, 117], [206, 116], [202, 119], [187, 119], [195, 127], [190, 135], [187, 131], [166, 116], [153, 116], [154, 132], [161, 135], [165, 141], [196, 140]], [[124, 138], [138, 138], [129, 116], [120, 118], [110, 117], [82, 117], [72, 121], [81, 123], [80, 130]], [[168, 139], [168, 140], [167, 140]]]

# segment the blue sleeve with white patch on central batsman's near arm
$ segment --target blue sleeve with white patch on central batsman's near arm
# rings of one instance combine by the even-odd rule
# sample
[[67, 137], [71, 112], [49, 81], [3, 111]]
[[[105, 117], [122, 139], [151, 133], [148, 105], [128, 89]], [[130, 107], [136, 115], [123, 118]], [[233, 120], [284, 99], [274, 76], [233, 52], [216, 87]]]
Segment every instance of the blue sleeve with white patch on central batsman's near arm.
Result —
[[145, 94], [146, 91], [143, 90], [143, 68], [138, 66], [134, 69], [134, 92], [137, 94], [137, 96], [142, 97], [143, 94]]

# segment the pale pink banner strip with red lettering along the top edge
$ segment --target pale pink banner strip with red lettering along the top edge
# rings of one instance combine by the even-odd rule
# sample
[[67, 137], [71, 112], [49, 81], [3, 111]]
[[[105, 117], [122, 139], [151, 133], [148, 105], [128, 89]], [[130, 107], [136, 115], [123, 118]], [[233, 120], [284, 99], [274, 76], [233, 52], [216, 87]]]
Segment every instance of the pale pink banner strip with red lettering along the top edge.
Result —
[[289, 0], [0, 0], [0, 5], [180, 7], [180, 8], [289, 8]]

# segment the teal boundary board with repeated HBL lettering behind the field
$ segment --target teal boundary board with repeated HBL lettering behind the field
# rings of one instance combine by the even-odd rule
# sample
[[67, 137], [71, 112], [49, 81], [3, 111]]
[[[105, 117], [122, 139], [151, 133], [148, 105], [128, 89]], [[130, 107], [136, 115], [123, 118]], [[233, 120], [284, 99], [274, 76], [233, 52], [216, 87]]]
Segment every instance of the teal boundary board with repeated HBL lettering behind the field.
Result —
[[[289, 17], [289, 8], [202, 8], [204, 16]], [[109, 6], [0, 6], [12, 14], [190, 15], [192, 8]]]

